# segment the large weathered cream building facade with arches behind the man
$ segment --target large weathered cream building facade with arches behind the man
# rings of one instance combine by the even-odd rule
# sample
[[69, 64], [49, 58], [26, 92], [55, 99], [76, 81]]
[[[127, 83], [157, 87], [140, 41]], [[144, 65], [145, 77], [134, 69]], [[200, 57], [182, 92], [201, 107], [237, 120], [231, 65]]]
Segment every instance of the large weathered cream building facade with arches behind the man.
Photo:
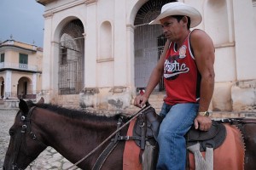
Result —
[[[165, 43], [161, 27], [148, 22], [172, 0], [37, 2], [45, 7], [40, 95], [68, 107], [131, 109]], [[180, 2], [201, 12], [203, 20], [196, 28], [214, 42], [216, 84], [211, 110], [255, 111], [256, 1]], [[155, 107], [160, 108], [164, 89], [160, 82], [149, 99]]]

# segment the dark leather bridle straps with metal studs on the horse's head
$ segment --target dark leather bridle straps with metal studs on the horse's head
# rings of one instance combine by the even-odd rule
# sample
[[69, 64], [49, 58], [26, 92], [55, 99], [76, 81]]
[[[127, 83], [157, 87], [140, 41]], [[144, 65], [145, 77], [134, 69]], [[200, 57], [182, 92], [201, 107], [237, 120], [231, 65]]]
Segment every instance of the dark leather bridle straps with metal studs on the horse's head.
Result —
[[32, 132], [31, 115], [32, 115], [32, 111], [35, 108], [36, 108], [35, 106], [32, 106], [30, 108], [30, 110], [28, 111], [27, 116], [25, 116], [25, 114], [22, 111], [20, 111], [21, 112], [20, 121], [22, 122], [22, 125], [21, 125], [21, 131], [20, 131], [20, 133], [18, 133], [17, 139], [15, 139], [14, 160], [12, 162], [12, 169], [13, 170], [15, 170], [15, 169], [23, 170], [23, 169], [25, 169], [25, 168], [18, 167], [17, 160], [18, 160], [18, 156], [19, 156], [19, 153], [20, 153], [21, 144], [23, 144], [24, 150], [26, 150], [26, 156], [28, 156], [27, 149], [26, 149], [26, 134], [29, 134], [29, 137], [32, 140], [37, 140], [40, 145], [42, 145], [44, 147], [47, 147], [47, 145], [44, 144], [42, 141], [40, 141], [37, 138], [36, 134]]

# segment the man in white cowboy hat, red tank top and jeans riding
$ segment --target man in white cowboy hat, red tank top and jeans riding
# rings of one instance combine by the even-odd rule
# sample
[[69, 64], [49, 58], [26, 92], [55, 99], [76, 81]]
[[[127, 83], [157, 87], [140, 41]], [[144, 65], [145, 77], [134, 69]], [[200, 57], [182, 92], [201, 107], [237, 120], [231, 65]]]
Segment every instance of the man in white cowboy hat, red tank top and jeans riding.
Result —
[[157, 169], [185, 169], [184, 135], [195, 125], [207, 131], [212, 126], [208, 108], [214, 88], [214, 46], [205, 31], [190, 27], [201, 23], [201, 14], [184, 3], [166, 3], [150, 25], [160, 24], [167, 38], [163, 54], [151, 73], [145, 94], [134, 105], [142, 107], [160, 78], [164, 77], [166, 98], [160, 111]]

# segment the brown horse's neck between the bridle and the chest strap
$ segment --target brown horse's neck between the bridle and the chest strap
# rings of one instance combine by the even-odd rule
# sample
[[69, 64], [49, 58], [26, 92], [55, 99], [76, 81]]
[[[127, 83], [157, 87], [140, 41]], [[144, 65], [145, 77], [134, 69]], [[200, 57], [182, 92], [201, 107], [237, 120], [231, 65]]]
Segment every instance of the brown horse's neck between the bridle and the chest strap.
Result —
[[113, 126], [99, 130], [97, 126], [102, 125], [61, 116], [52, 111], [37, 115], [38, 127], [42, 129], [46, 143], [68, 160], [86, 155], [115, 130]]

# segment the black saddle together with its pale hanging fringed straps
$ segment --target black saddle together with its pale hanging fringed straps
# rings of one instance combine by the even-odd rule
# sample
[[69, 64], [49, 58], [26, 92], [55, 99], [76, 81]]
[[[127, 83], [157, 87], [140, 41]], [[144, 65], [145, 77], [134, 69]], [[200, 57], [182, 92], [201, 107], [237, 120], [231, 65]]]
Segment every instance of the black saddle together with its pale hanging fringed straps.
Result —
[[[156, 159], [158, 157], [158, 147], [154, 147], [155, 149], [150, 152], [145, 148], [145, 145], [158, 146], [156, 139], [159, 132], [160, 123], [162, 122], [161, 116], [157, 115], [154, 111], [154, 108], [148, 108], [148, 110], [144, 111], [141, 116], [137, 117], [135, 125], [133, 127], [133, 139], [134, 142], [144, 151], [146, 156], [149, 158], [144, 158], [143, 161], [143, 170], [144, 169], [155, 169], [156, 167]], [[200, 169], [212, 169], [212, 161], [213, 161], [213, 150], [218, 148], [221, 144], [223, 144], [224, 139], [226, 137], [226, 129], [223, 124], [219, 122], [212, 121], [212, 127], [207, 131], [200, 131], [195, 129], [192, 126], [189, 129], [189, 132], [185, 135], [187, 141], [187, 150], [193, 152], [196, 157], [202, 157], [201, 154], [196, 150], [207, 151], [207, 161], [203, 161], [201, 159], [195, 158], [197, 167]], [[148, 166], [148, 162], [151, 162]]]

